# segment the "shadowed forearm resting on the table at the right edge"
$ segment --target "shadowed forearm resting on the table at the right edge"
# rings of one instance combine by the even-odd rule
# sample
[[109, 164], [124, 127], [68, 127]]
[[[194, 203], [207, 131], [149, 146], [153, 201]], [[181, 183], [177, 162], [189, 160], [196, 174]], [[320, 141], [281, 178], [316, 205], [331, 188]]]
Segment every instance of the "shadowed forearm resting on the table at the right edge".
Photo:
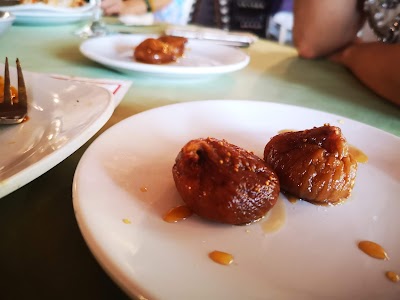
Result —
[[351, 44], [331, 59], [349, 68], [378, 95], [400, 105], [400, 44]]

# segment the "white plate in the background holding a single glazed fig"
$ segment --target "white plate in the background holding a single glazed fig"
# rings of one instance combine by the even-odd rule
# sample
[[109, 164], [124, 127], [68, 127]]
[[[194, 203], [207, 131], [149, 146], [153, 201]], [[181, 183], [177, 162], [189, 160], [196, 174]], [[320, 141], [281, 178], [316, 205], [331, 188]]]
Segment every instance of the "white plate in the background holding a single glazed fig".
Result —
[[94, 38], [84, 41], [80, 50], [89, 59], [120, 72], [142, 72], [182, 78], [237, 71], [247, 66], [250, 60], [240, 49], [190, 40], [184, 57], [175, 63], [153, 65], [135, 61], [134, 48], [149, 37], [155, 36], [124, 34]]

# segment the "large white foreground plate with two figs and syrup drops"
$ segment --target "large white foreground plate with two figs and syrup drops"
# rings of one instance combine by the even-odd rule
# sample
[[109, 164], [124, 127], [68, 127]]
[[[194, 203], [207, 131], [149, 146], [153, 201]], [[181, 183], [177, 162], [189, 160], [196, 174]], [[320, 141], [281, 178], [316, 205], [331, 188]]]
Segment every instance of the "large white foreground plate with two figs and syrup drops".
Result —
[[[327, 122], [369, 156], [345, 204], [291, 204], [281, 195], [286, 222], [272, 234], [263, 220], [162, 220], [182, 204], [171, 169], [190, 139], [225, 138], [262, 156], [278, 131]], [[399, 149], [393, 135], [306, 108], [228, 100], [164, 106], [120, 122], [89, 147], [75, 173], [74, 208], [95, 257], [138, 299], [398, 299], [399, 285], [385, 272], [400, 273]], [[360, 240], [381, 244], [390, 260], [367, 256]], [[214, 263], [213, 250], [231, 253], [234, 263]]]

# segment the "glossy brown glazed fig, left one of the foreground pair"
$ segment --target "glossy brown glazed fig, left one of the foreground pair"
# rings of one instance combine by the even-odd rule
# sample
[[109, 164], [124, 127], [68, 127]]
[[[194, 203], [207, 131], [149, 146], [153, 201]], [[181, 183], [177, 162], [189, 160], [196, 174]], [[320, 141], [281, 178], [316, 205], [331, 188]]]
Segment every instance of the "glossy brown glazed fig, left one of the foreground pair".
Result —
[[197, 215], [221, 223], [248, 224], [276, 203], [279, 181], [265, 162], [215, 138], [188, 142], [172, 168], [183, 201]]

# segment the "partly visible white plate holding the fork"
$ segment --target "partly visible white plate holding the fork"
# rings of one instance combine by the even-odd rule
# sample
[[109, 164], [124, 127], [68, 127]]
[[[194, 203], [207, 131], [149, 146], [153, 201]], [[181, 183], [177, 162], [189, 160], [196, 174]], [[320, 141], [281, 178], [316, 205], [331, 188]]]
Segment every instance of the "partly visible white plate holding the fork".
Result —
[[[11, 84], [17, 86], [14, 68], [10, 68], [10, 75]], [[24, 78], [29, 119], [19, 125], [0, 126], [0, 197], [67, 158], [114, 110], [112, 95], [104, 88], [28, 71], [24, 71]]]

